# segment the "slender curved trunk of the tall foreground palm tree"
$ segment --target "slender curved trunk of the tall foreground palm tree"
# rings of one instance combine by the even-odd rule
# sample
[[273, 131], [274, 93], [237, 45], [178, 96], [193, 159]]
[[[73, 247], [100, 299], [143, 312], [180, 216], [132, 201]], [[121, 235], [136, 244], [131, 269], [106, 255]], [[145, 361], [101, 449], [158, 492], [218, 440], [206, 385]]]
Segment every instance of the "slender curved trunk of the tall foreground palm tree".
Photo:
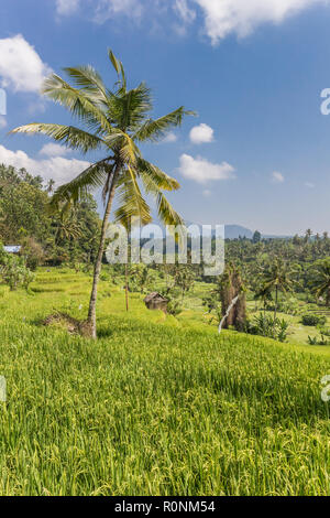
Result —
[[108, 220], [109, 220], [109, 216], [111, 213], [111, 207], [112, 207], [112, 202], [113, 202], [113, 196], [114, 196], [114, 191], [116, 191], [116, 180], [117, 180], [119, 170], [120, 170], [120, 164], [117, 163], [114, 173], [112, 176], [111, 188], [109, 191], [108, 201], [106, 205], [106, 212], [105, 212], [105, 216], [102, 220], [102, 228], [101, 228], [100, 245], [99, 245], [99, 250], [98, 250], [95, 269], [94, 269], [92, 288], [91, 288], [91, 293], [90, 293], [88, 319], [87, 319], [87, 323], [89, 327], [88, 334], [90, 334], [90, 337], [94, 339], [97, 338], [96, 304], [97, 304], [97, 295], [98, 295], [98, 282], [99, 282], [101, 267], [102, 267], [102, 258], [103, 258], [103, 252], [105, 252], [105, 242], [106, 242]]

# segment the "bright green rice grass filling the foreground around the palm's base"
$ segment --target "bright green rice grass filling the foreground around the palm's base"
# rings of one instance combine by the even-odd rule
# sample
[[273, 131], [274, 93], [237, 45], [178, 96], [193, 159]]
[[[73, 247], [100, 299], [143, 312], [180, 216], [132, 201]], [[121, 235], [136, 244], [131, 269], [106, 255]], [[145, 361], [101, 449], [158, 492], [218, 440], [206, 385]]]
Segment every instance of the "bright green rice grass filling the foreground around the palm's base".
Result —
[[90, 279], [42, 272], [35, 288], [52, 284], [0, 298], [1, 495], [330, 493], [327, 348], [219, 337], [140, 294], [127, 314], [106, 282], [94, 343], [38, 325], [84, 317]]

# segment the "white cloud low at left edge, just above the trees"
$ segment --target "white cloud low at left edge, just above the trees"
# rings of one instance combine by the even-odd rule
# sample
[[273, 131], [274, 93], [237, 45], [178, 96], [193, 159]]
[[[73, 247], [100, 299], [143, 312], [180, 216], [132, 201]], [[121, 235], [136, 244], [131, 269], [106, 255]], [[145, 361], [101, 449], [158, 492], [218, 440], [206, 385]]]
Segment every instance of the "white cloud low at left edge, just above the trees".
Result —
[[55, 180], [57, 185], [70, 181], [89, 165], [89, 162], [82, 160], [68, 160], [62, 157], [35, 160], [24, 151], [11, 151], [3, 145], [0, 145], [0, 163], [16, 169], [25, 168], [33, 175], [41, 175], [44, 180]]

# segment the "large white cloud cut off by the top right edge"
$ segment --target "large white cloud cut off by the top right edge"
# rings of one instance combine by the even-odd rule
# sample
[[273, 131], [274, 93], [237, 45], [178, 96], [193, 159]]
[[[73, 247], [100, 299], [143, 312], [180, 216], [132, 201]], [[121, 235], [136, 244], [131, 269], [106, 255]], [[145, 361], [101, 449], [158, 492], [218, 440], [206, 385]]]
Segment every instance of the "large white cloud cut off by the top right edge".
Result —
[[193, 0], [205, 14], [205, 29], [212, 44], [230, 33], [251, 34], [262, 23], [280, 23], [302, 9], [329, 0]]

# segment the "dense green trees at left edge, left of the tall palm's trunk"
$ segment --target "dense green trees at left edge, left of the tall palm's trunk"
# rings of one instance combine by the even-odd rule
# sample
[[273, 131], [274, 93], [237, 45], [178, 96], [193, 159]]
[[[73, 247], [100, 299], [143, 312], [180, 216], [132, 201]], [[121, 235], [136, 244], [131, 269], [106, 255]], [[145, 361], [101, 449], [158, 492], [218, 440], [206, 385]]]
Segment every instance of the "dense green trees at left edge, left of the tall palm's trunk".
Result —
[[0, 240], [21, 245], [28, 266], [92, 262], [100, 218], [91, 195], [72, 207], [50, 211], [55, 182], [24, 169], [0, 165]]

